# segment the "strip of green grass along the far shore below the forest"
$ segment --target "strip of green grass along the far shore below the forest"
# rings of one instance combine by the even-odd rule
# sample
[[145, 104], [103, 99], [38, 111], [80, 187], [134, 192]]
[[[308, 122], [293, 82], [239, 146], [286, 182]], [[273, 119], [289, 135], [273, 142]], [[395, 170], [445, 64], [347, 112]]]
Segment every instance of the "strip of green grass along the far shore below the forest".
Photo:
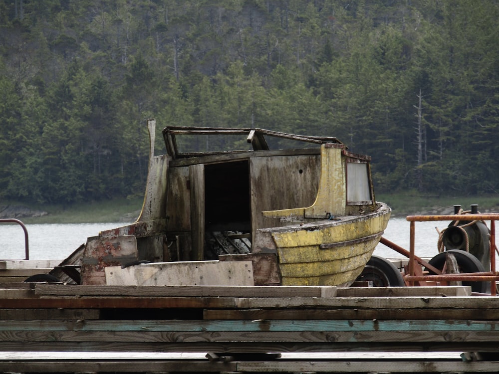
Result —
[[[452, 214], [454, 205], [461, 205], [469, 210], [471, 204], [478, 204], [482, 213], [499, 213], [499, 195], [483, 196], [429, 196], [417, 192], [379, 193], [376, 199], [386, 202], [392, 208], [392, 216], [405, 217], [412, 214]], [[46, 214], [30, 217], [17, 216], [24, 223], [99, 223], [99, 222], [133, 222], [142, 208], [142, 198], [120, 198], [105, 201], [73, 204], [69, 207], [61, 205], [26, 204], [19, 202], [0, 203], [2, 209], [9, 207], [12, 211], [23, 210]], [[21, 209], [22, 208], [22, 209]], [[3, 216], [7, 218], [7, 216]], [[15, 217], [13, 215], [8, 218]]]

